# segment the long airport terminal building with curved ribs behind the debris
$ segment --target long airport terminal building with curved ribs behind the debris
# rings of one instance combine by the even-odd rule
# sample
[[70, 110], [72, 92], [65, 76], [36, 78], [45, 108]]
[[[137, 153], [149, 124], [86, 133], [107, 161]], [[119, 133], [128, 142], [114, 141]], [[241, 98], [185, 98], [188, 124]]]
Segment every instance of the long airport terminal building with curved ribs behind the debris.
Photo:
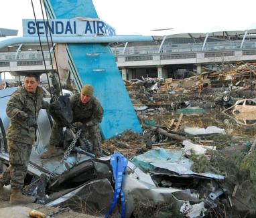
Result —
[[[182, 78], [189, 72], [200, 74], [204, 66], [214, 70], [225, 64], [256, 60], [256, 29], [174, 33], [153, 36], [153, 39], [147, 42], [111, 43], [123, 80], [141, 76]], [[51, 69], [53, 49], [49, 52], [47, 45], [42, 46], [46, 66]], [[15, 72], [44, 70], [39, 44], [21, 43], [0, 49], [0, 72], [14, 72], [15, 75]]]

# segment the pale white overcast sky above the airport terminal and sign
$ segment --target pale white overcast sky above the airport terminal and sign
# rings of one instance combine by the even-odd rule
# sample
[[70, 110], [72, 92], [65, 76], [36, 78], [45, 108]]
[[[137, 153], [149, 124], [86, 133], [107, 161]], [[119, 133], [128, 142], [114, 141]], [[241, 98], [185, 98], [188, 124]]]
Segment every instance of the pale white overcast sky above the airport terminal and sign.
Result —
[[[42, 17], [40, 0], [34, 0]], [[256, 28], [255, 0], [92, 0], [101, 19], [115, 27], [118, 35], [152, 33], [152, 29], [174, 28], [188, 32]], [[31, 0], [1, 0], [0, 27], [18, 29], [22, 19], [34, 19]]]

